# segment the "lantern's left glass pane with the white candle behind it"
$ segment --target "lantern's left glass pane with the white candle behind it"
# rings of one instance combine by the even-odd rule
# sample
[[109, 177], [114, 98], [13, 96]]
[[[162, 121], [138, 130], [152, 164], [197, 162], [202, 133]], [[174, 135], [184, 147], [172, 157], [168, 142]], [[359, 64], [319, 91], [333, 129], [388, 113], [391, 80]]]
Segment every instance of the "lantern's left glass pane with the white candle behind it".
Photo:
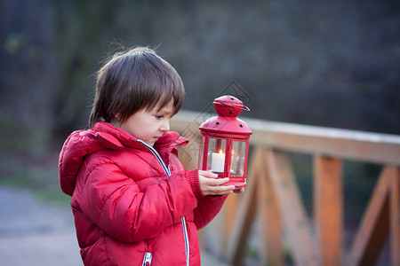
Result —
[[225, 165], [227, 140], [210, 137], [208, 141], [207, 170], [222, 173]]

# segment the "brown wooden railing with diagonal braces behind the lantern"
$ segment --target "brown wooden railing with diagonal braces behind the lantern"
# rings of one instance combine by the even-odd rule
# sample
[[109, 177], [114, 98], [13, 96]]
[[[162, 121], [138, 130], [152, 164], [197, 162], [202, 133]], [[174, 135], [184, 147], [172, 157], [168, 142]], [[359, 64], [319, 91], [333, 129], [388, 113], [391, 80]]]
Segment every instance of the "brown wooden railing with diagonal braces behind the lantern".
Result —
[[[172, 129], [192, 140], [180, 152], [187, 168], [196, 168], [202, 117], [181, 111], [172, 119]], [[390, 264], [400, 265], [399, 136], [242, 119], [253, 131], [252, 154], [246, 191], [229, 196], [222, 212], [220, 256], [226, 262], [242, 265], [257, 215], [263, 243], [260, 265], [284, 265], [284, 241], [295, 265], [373, 265], [386, 239]], [[302, 204], [288, 153], [313, 157], [313, 217], [308, 217]], [[343, 160], [382, 166], [350, 248], [343, 244]]]

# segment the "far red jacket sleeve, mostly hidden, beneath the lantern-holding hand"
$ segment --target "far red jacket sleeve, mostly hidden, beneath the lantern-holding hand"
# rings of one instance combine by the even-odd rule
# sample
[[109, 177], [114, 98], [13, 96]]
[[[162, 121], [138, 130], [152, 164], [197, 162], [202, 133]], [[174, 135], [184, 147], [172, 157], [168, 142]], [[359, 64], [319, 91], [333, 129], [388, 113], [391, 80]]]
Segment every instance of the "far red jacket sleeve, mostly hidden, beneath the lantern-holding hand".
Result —
[[202, 229], [218, 215], [220, 208], [224, 204], [228, 195], [223, 196], [204, 196], [200, 190], [198, 170], [185, 170], [185, 176], [196, 195], [197, 207], [195, 208], [195, 224], [197, 229]]

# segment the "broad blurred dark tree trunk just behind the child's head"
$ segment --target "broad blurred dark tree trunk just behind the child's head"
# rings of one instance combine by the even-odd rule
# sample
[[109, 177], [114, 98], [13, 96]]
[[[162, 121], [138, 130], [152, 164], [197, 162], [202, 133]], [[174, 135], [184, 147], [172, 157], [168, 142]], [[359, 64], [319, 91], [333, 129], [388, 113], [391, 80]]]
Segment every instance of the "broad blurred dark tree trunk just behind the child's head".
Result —
[[86, 127], [95, 66], [106, 49], [118, 5], [110, 1], [55, 2], [56, 57], [59, 80], [52, 101], [52, 132], [64, 139], [71, 129]]

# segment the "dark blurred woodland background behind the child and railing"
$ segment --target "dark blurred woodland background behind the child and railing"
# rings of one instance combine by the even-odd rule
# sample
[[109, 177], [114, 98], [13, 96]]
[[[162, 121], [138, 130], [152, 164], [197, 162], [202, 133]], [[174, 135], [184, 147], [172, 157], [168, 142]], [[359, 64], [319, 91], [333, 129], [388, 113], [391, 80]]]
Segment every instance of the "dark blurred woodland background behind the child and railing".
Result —
[[[0, 182], [60, 198], [58, 153], [87, 127], [95, 73], [135, 45], [175, 66], [183, 109], [234, 83], [248, 117], [399, 135], [399, 3], [0, 0]], [[367, 198], [377, 167], [348, 168]]]

